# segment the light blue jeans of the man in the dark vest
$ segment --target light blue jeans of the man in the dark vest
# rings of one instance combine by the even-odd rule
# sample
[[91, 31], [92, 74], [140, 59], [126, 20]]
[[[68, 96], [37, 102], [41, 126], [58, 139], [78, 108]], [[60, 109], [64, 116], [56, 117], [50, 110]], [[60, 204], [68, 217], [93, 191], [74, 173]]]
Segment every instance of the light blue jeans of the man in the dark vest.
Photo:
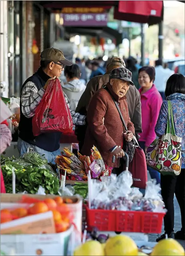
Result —
[[44, 155], [44, 157], [48, 160], [48, 163], [53, 163], [55, 164], [55, 158], [56, 156], [60, 155], [60, 150], [56, 150], [54, 152], [49, 152], [49, 151], [46, 151], [42, 148], [38, 148], [37, 146], [34, 146], [34, 145], [31, 145], [25, 141], [23, 141], [22, 139], [18, 139], [17, 141], [17, 148], [18, 148], [18, 151], [19, 151], [19, 154], [20, 156], [24, 155], [25, 153], [27, 153], [27, 149], [28, 148], [33, 148], [33, 150], [35, 152], [37, 152], [39, 155]]

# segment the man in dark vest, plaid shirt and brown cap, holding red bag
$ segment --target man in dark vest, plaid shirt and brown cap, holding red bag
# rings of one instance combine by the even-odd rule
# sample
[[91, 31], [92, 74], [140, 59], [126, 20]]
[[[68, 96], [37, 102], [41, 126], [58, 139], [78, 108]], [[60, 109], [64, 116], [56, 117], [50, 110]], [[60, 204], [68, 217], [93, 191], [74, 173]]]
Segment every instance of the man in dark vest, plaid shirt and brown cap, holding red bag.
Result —
[[[44, 93], [52, 79], [59, 78], [64, 70], [64, 65], [70, 66], [73, 63], [67, 60], [63, 52], [55, 48], [48, 48], [41, 52], [40, 67], [35, 74], [29, 77], [21, 88], [20, 95], [20, 123], [18, 150], [20, 155], [33, 148], [40, 155], [44, 155], [48, 162], [54, 163], [57, 155], [60, 155], [59, 140], [61, 133], [43, 133], [37, 137], [32, 133], [32, 118], [36, 112]], [[69, 100], [64, 98], [70, 108]], [[85, 116], [71, 112], [73, 124], [84, 125]]]

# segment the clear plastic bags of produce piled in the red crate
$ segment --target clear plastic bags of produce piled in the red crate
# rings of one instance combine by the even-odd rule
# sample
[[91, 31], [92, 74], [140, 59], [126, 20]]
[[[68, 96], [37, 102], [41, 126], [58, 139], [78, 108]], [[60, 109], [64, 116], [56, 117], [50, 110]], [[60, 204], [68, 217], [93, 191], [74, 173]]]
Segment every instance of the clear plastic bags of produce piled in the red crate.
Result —
[[[143, 194], [136, 187], [131, 187], [133, 180], [129, 171], [90, 180], [90, 202], [92, 209], [119, 211], [150, 211], [165, 213], [165, 204], [159, 194], [160, 185], [156, 180], [148, 181], [146, 193]], [[87, 198], [88, 201], [88, 198]]]

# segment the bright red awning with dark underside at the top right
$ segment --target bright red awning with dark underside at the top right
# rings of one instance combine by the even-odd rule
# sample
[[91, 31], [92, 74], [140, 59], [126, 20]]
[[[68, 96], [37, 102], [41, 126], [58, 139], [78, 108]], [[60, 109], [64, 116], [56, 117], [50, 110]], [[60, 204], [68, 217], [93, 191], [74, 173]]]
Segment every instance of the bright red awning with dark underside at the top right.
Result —
[[151, 26], [163, 21], [163, 12], [163, 1], [119, 1], [118, 7], [114, 8], [114, 19]]

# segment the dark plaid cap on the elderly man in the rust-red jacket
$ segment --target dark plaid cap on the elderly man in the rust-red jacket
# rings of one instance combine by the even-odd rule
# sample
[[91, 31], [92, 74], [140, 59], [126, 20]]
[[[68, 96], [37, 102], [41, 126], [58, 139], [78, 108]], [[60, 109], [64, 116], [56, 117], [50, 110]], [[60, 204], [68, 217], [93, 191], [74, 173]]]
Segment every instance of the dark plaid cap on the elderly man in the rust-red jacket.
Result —
[[134, 83], [132, 82], [132, 73], [130, 70], [124, 68], [124, 67], [119, 67], [117, 69], [113, 69], [110, 72], [110, 77], [109, 80], [112, 78], [119, 78], [122, 79], [124, 81], [128, 81], [130, 82], [131, 85], [134, 85]]

